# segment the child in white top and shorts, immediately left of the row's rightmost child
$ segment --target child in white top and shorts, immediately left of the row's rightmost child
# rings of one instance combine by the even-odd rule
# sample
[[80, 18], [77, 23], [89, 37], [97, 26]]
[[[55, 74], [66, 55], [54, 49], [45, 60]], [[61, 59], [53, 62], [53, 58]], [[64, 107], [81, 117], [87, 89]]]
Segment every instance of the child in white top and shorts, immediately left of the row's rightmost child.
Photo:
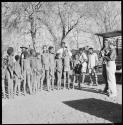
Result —
[[82, 84], [84, 84], [85, 74], [86, 74], [86, 70], [87, 70], [87, 61], [88, 61], [88, 58], [87, 58], [87, 55], [85, 54], [85, 48], [80, 48], [79, 52], [80, 52], [79, 60], [80, 60], [81, 65], [82, 65], [82, 68], [81, 68]]

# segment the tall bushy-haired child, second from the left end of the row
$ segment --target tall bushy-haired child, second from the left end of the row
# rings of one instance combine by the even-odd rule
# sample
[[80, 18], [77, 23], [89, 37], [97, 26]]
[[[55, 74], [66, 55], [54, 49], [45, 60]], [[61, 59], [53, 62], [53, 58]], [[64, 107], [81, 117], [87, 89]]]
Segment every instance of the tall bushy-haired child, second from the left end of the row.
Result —
[[7, 81], [8, 81], [8, 97], [13, 98], [13, 67], [14, 67], [14, 49], [13, 47], [9, 47], [7, 50], [8, 58], [7, 58]]

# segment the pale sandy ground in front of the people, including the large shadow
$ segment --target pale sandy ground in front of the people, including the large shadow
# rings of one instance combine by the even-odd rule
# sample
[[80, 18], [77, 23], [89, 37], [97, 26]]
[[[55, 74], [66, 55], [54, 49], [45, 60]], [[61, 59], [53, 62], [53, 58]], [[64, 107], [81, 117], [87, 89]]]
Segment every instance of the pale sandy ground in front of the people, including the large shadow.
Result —
[[104, 84], [81, 90], [41, 91], [2, 100], [2, 123], [117, 123], [122, 121], [122, 85], [117, 99], [101, 93]]

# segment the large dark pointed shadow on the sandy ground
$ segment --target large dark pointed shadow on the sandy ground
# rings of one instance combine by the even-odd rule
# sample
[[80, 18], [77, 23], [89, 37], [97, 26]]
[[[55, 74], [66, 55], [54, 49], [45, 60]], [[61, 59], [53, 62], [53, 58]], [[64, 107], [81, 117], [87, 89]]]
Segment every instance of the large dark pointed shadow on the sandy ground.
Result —
[[64, 101], [63, 103], [76, 110], [106, 119], [113, 123], [122, 122], [122, 105], [120, 104], [95, 98]]

